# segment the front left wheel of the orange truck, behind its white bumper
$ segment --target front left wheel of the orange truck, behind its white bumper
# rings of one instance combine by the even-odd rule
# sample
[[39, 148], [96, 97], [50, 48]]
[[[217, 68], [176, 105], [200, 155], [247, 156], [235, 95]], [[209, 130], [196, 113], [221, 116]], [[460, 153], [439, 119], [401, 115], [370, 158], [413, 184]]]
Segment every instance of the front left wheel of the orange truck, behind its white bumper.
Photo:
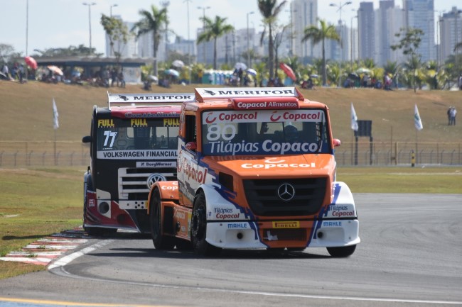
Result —
[[191, 218], [191, 243], [195, 252], [203, 256], [216, 256], [221, 248], [210, 245], [206, 240], [207, 234], [207, 210], [205, 195], [200, 192], [194, 201], [193, 216]]

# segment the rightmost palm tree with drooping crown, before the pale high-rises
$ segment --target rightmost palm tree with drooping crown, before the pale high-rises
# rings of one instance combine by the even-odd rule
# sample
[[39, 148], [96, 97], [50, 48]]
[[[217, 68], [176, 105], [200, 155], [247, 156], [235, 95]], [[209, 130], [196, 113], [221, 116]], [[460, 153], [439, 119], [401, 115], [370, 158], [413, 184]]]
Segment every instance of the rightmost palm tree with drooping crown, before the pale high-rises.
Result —
[[308, 26], [304, 30], [303, 38], [301, 39], [302, 42], [305, 40], [312, 40], [313, 44], [316, 45], [318, 43], [322, 43], [323, 48], [323, 67], [322, 67], [322, 74], [323, 74], [323, 86], [327, 84], [327, 69], [326, 69], [326, 39], [328, 40], [336, 40], [340, 42], [340, 35], [338, 35], [337, 30], [335, 30], [335, 26], [328, 25], [326, 21], [319, 19], [319, 28], [316, 26]]

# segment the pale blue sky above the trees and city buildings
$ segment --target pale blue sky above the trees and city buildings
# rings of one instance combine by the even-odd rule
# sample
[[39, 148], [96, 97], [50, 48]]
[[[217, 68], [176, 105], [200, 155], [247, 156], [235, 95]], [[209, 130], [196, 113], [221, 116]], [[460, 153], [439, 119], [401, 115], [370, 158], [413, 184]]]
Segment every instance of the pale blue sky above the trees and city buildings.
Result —
[[[351, 18], [355, 16], [359, 4], [363, 0], [351, 0], [353, 3], [344, 6], [342, 18], [350, 25]], [[26, 9], [28, 2], [28, 10]], [[97, 52], [104, 53], [104, 30], [100, 25], [102, 13], [121, 16], [124, 21], [139, 21], [140, 9], [149, 9], [151, 4], [158, 7], [161, 3], [169, 2], [168, 11], [171, 23], [169, 28], [183, 38], [194, 39], [195, 29], [200, 28], [199, 18], [205, 16], [226, 17], [227, 22], [235, 28], [247, 28], [247, 13], [249, 14], [249, 27], [261, 30], [262, 17], [257, 8], [257, 0], [0, 0], [1, 30], [0, 43], [12, 45], [17, 52], [26, 55], [34, 53], [34, 49], [68, 48], [70, 45], [90, 44], [90, 24], [88, 7], [83, 3], [95, 3], [91, 6], [92, 47]], [[287, 1], [281, 22], [289, 23], [289, 3]], [[331, 23], [340, 18], [337, 6], [346, 1], [318, 0], [318, 15]], [[374, 0], [375, 9], [379, 0]], [[462, 9], [461, 0], [435, 0], [435, 11], [450, 11], [453, 6]], [[281, 0], [279, 0], [281, 3]], [[401, 0], [395, 0], [395, 5], [402, 6]], [[117, 6], [114, 6], [116, 5]], [[188, 10], [189, 6], [189, 10]], [[28, 11], [28, 18], [27, 12]], [[189, 13], [188, 13], [189, 11]], [[435, 13], [437, 14], [437, 13]], [[189, 16], [189, 26], [188, 26]], [[28, 22], [27, 22], [28, 21]], [[28, 27], [26, 24], [28, 23]], [[353, 27], [354, 23], [353, 23]], [[27, 28], [27, 35], [26, 35]], [[189, 31], [188, 31], [189, 28]], [[27, 39], [26, 39], [27, 38]]]

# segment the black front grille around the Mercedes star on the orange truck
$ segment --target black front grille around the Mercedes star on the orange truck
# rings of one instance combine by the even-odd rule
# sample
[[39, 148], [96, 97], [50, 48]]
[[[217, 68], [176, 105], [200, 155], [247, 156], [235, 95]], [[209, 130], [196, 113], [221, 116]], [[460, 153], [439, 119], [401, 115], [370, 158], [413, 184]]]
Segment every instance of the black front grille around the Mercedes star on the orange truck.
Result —
[[[308, 216], [318, 212], [326, 195], [325, 177], [303, 179], [244, 180], [245, 196], [257, 216]], [[278, 196], [281, 184], [291, 184], [295, 196], [283, 201]]]

